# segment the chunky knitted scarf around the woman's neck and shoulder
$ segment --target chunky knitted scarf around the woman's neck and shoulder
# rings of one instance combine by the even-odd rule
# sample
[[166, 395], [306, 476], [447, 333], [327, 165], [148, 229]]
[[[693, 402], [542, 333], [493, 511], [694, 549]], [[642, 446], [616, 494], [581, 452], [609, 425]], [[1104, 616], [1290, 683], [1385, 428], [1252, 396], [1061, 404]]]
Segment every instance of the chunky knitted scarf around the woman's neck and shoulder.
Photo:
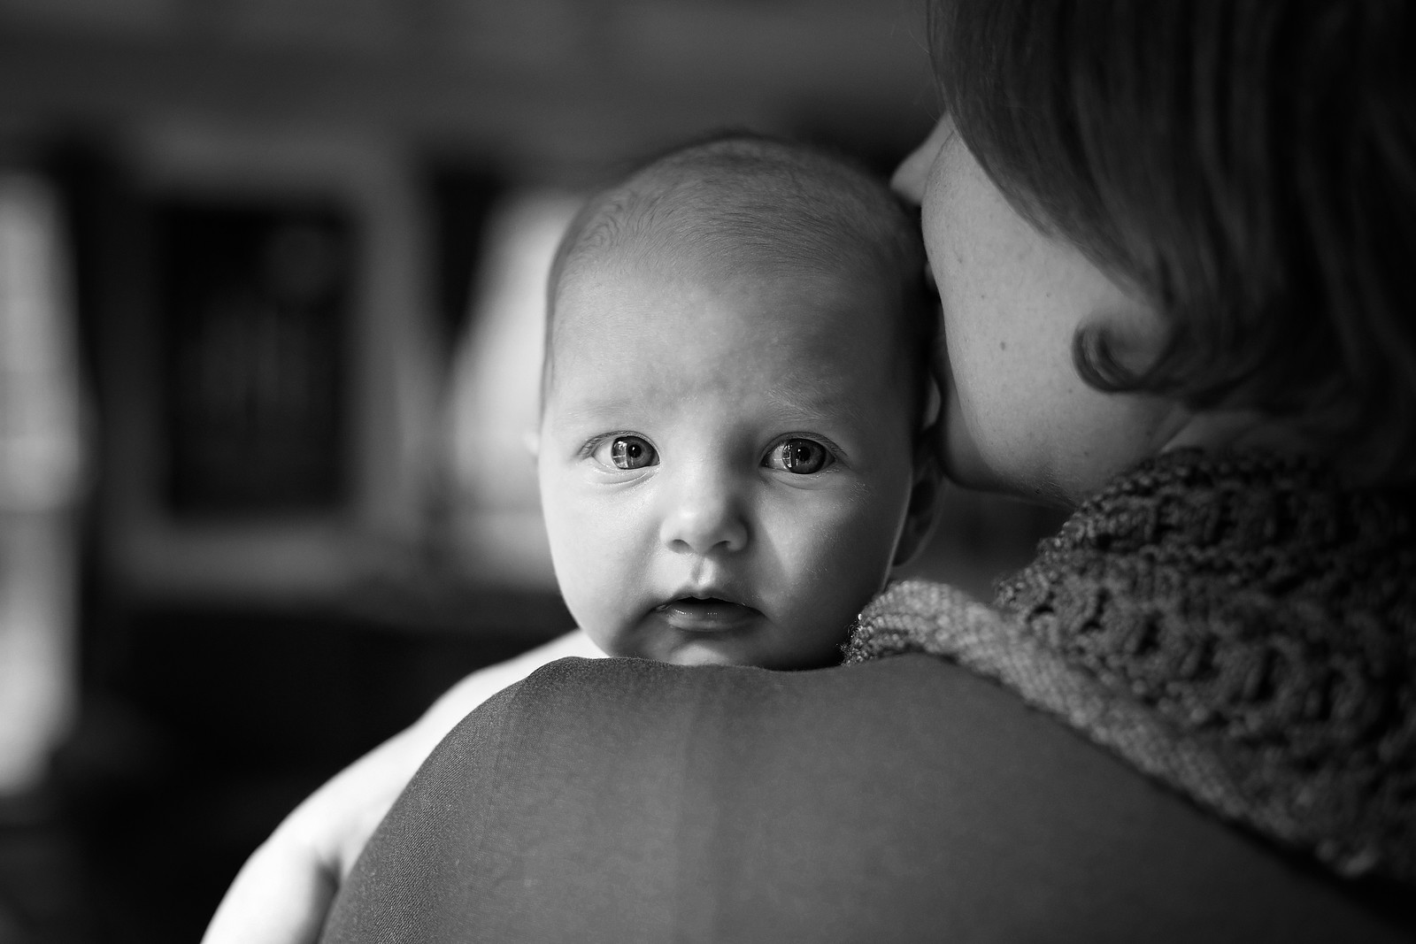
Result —
[[993, 606], [892, 586], [845, 661], [954, 660], [1231, 821], [1416, 885], [1413, 505], [1303, 460], [1167, 453]]

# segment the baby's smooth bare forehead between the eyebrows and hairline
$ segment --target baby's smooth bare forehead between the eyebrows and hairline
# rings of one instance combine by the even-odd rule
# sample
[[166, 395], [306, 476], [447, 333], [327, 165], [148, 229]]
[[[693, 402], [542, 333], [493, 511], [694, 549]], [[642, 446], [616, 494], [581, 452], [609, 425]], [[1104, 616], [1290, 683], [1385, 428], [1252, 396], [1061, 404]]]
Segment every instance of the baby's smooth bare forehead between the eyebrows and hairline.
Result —
[[708, 384], [814, 403], [824, 415], [847, 408], [841, 396], [855, 391], [910, 410], [927, 351], [909, 307], [898, 286], [865, 269], [661, 246], [590, 253], [562, 276], [545, 392], [564, 381], [576, 392], [555, 396], [562, 406], [606, 388], [668, 403]]

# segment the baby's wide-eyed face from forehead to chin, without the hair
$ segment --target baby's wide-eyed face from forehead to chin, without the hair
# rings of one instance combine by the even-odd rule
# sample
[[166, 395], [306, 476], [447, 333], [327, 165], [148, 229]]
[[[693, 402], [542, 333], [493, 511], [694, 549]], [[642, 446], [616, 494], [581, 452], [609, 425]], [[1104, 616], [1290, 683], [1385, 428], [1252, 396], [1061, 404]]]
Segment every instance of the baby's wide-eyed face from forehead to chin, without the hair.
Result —
[[538, 476], [556, 577], [612, 655], [804, 668], [884, 585], [910, 371], [864, 279], [562, 286]]

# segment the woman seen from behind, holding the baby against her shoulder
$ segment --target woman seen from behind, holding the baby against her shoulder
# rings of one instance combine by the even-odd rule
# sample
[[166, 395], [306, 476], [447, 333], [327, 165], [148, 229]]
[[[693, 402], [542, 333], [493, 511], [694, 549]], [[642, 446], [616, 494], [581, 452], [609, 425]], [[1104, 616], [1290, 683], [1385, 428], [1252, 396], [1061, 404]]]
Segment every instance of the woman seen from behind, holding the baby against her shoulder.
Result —
[[[843, 668], [551, 665], [429, 759], [327, 940], [1409, 940], [1413, 20], [940, 0], [896, 187], [944, 463], [1073, 517], [991, 607], [886, 592]], [[455, 702], [208, 941], [313, 940]]]

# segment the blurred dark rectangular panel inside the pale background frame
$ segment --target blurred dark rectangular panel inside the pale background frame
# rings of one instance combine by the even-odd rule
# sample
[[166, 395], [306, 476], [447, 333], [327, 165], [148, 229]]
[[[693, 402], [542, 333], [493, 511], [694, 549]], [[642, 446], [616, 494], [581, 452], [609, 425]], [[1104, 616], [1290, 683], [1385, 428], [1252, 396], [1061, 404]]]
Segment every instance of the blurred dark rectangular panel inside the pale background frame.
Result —
[[180, 519], [340, 511], [353, 221], [313, 202], [154, 209], [163, 507]]

